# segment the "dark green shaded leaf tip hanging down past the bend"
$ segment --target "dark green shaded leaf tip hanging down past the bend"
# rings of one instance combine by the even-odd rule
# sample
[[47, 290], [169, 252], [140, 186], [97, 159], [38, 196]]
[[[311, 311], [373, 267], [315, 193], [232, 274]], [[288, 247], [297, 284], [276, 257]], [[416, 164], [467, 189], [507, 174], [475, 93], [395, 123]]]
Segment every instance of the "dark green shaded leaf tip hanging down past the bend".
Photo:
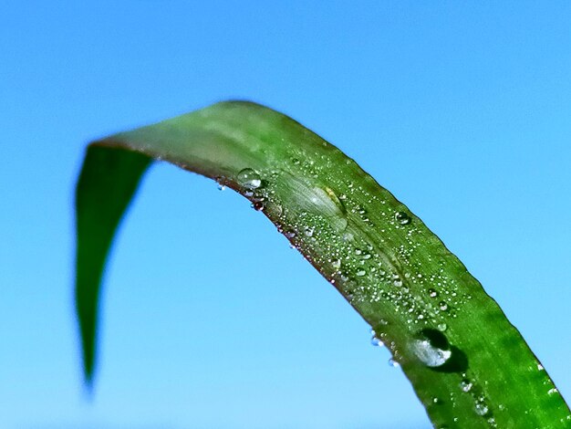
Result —
[[90, 385], [97, 356], [99, 288], [119, 220], [151, 158], [137, 152], [89, 146], [76, 190], [76, 309], [84, 372]]

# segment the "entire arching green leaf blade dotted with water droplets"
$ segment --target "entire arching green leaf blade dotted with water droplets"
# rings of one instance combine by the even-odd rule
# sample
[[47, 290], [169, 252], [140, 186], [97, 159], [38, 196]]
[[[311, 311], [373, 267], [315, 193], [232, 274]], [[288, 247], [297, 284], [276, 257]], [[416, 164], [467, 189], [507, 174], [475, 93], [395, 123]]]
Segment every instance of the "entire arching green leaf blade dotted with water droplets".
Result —
[[[224, 102], [96, 141], [89, 151], [78, 189], [78, 225], [85, 225], [78, 267], [90, 267], [78, 274], [87, 369], [101, 267], [149, 156], [211, 177], [264, 213], [369, 322], [435, 426], [571, 426], [546, 371], [458, 258], [355, 162], [295, 120]], [[116, 183], [123, 184], [116, 190]]]

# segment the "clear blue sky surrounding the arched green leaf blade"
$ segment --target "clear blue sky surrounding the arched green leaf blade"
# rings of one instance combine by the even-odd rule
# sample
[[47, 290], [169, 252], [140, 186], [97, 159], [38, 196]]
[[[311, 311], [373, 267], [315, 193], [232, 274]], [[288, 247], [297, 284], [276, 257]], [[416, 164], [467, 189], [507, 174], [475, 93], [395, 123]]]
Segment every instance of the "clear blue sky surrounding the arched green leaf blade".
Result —
[[85, 144], [222, 99], [293, 116], [408, 204], [571, 399], [571, 4], [186, 3], [0, 5], [0, 426], [430, 427], [262, 214], [166, 164], [114, 247], [86, 401]]

